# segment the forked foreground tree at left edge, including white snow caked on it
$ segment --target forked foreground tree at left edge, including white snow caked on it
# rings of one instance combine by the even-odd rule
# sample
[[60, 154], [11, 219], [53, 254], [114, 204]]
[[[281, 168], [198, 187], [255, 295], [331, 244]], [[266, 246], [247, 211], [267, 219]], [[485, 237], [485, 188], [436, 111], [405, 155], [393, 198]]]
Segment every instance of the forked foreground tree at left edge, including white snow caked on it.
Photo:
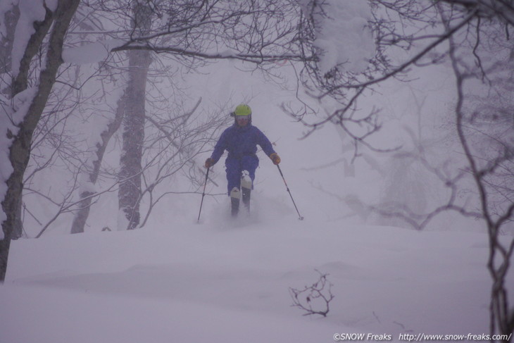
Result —
[[[61, 57], [66, 32], [79, 0], [20, 1], [20, 18], [11, 54], [11, 94], [2, 99], [1, 201], [3, 239], [0, 240], [0, 280], [4, 280], [11, 239], [21, 236], [23, 174], [30, 158], [32, 134], [49, 98]], [[47, 39], [47, 40], [46, 40]], [[34, 83], [29, 82], [32, 59], [44, 46], [44, 60]], [[34, 71], [32, 70], [34, 73]]]

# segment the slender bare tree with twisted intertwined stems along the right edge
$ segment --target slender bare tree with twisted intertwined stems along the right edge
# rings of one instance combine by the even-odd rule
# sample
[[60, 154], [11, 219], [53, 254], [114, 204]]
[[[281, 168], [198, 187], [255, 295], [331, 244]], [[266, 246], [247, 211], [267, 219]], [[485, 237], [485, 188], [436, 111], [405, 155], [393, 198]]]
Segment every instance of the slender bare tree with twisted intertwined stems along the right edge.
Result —
[[[445, 23], [448, 25], [447, 20]], [[484, 30], [487, 29], [484, 28]], [[510, 51], [513, 48], [510, 47]], [[504, 101], [498, 101], [496, 106], [488, 108], [489, 101], [473, 104], [474, 99], [470, 99], [467, 94], [466, 82], [475, 79], [475, 73], [458, 56], [458, 43], [453, 38], [449, 52], [458, 90], [455, 107], [458, 140], [468, 160], [468, 172], [475, 181], [479, 211], [486, 223], [489, 235], [487, 268], [493, 280], [490, 331], [491, 334], [500, 332], [503, 337], [511, 337], [510, 334], [514, 332], [514, 307], [511, 307], [512, 305], [508, 301], [506, 282], [510, 260], [514, 253], [514, 237], [501, 239], [501, 230], [503, 226], [511, 223], [514, 219], [514, 185], [511, 172], [514, 167], [514, 142], [512, 141], [514, 123], [510, 114], [514, 105], [510, 101], [512, 68], [491, 66], [491, 70], [488, 70], [489, 75], [493, 74], [496, 68], [499, 68], [500, 73], [509, 75], [508, 83], [500, 83], [499, 87], [503, 86], [503, 89], [499, 92], [499, 96], [495, 96], [496, 101], [506, 97], [508, 108], [501, 106], [502, 103], [505, 104]], [[508, 64], [512, 66], [512, 63], [510, 58]], [[483, 73], [485, 72], [484, 68], [487, 67], [482, 66]], [[507, 85], [506, 88], [504, 88], [505, 85]], [[467, 103], [471, 103], [472, 111], [466, 108]], [[484, 108], [484, 104], [486, 104], [486, 108]], [[509, 341], [510, 339], [507, 338], [501, 340], [501, 342]]]

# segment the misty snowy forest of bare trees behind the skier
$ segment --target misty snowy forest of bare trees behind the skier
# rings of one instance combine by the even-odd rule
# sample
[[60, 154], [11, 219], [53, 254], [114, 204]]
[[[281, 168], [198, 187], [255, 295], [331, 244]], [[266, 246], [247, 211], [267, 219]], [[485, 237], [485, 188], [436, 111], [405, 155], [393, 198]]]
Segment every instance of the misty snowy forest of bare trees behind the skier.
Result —
[[327, 218], [486, 232], [490, 330], [513, 331], [511, 1], [0, 10], [2, 280], [14, 239], [143, 228], [194, 206], [201, 161], [245, 102], [292, 170], [331, 168], [311, 182]]

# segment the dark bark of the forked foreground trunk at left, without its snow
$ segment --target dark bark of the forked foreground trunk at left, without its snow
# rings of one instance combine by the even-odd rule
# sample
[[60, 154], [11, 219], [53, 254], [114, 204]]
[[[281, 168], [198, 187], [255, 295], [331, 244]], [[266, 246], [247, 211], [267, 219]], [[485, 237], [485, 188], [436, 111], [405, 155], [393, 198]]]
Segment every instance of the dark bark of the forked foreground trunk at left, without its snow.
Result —
[[25, 118], [18, 124], [18, 132], [15, 135], [12, 132], [8, 132], [11, 135], [9, 138], [13, 142], [9, 149], [9, 161], [13, 166], [13, 173], [6, 182], [8, 188], [4, 201], [1, 203], [7, 218], [2, 223], [4, 239], [0, 241], [0, 280], [4, 280], [6, 276], [11, 239], [19, 238], [21, 232], [23, 232], [21, 222], [23, 173], [25, 173], [30, 157], [32, 134], [39, 118], [41, 118], [46, 101], [48, 101], [51, 89], [54, 86], [57, 70], [62, 63], [61, 52], [64, 37], [79, 2], [80, 0], [59, 0], [55, 13], [51, 13], [46, 8], [46, 18], [44, 21], [34, 24], [36, 32], [30, 37], [25, 49], [25, 55], [20, 63], [20, 72], [11, 85], [13, 95], [27, 88], [28, 66], [30, 66], [30, 61], [34, 54], [40, 49], [43, 38], [49, 30], [52, 19], [54, 19], [54, 25], [52, 26], [48, 42], [46, 64], [39, 75], [39, 85], [37, 86], [35, 96], [31, 101]]

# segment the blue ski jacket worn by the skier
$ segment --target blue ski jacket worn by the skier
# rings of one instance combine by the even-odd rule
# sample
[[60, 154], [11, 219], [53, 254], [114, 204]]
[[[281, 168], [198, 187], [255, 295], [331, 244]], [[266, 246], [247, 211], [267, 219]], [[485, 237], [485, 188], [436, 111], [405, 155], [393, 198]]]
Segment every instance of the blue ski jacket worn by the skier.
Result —
[[214, 146], [211, 158], [214, 163], [218, 162], [225, 150], [228, 151], [227, 159], [256, 156], [257, 144], [261, 146], [266, 155], [270, 156], [275, 153], [268, 137], [257, 127], [251, 123], [243, 127], [234, 124], [223, 131], [218, 143]]

